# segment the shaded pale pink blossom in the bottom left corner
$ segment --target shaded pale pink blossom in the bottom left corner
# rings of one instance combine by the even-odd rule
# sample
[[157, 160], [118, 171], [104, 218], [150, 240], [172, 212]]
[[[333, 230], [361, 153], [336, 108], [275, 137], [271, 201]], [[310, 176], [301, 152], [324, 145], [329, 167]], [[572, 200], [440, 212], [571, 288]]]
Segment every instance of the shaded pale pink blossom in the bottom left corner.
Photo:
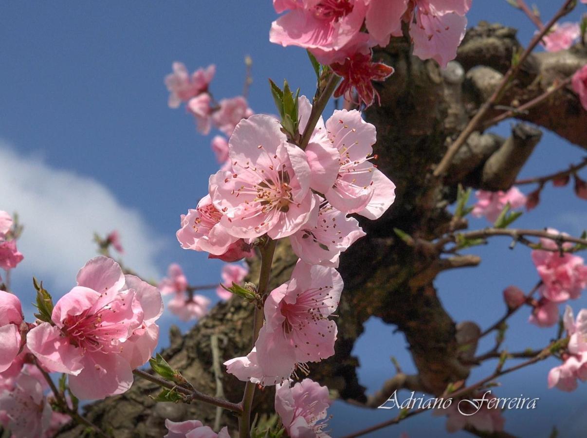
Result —
[[0, 393], [0, 423], [18, 438], [46, 437], [52, 411], [35, 377], [21, 373], [11, 389]]

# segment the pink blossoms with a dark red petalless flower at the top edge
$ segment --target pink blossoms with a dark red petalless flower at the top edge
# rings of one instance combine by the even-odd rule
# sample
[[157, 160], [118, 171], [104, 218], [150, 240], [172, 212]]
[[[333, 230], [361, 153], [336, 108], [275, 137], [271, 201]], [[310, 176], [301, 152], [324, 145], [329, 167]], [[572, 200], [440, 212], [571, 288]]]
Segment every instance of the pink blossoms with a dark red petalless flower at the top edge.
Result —
[[[274, 0], [278, 14], [269, 40], [309, 50], [343, 82], [335, 96], [371, 105], [379, 97], [371, 83], [393, 73], [373, 62], [372, 47], [386, 46], [409, 29], [414, 55], [434, 59], [441, 67], [454, 59], [462, 41], [472, 0]], [[365, 32], [366, 31], [366, 32]]]

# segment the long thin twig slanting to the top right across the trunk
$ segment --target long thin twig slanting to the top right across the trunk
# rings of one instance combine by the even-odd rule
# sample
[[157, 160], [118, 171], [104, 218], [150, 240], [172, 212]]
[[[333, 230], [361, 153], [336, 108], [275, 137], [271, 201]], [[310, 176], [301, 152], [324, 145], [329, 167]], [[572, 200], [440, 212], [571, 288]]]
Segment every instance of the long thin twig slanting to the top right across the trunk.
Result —
[[469, 136], [475, 131], [475, 129], [477, 129], [477, 126], [480, 124], [483, 117], [485, 117], [485, 114], [487, 114], [491, 107], [495, 103], [497, 103], [499, 99], [501, 99], [501, 96], [504, 93], [505, 89], [508, 87], [508, 85], [510, 85], [511, 80], [514, 79], [515, 75], [517, 75], [518, 70], [520, 69], [522, 64], [524, 64], [525, 60], [528, 58], [530, 53], [532, 53], [532, 50], [534, 50], [534, 48], [541, 41], [542, 37], [546, 35], [546, 32], [548, 32], [561, 17], [569, 14], [569, 12], [572, 11], [572, 8], [570, 8], [569, 5], [571, 5], [575, 1], [576, 0], [566, 0], [565, 3], [562, 5], [561, 9], [559, 9], [559, 11], [556, 12], [556, 14], [544, 26], [544, 28], [542, 28], [541, 31], [537, 33], [537, 35], [534, 35], [534, 38], [532, 38], [532, 41], [529, 43], [528, 47], [519, 56], [517, 62], [512, 64], [510, 69], [508, 69], [508, 71], [505, 73], [497, 89], [495, 89], [495, 91], [492, 93], [489, 99], [487, 99], [483, 103], [483, 105], [481, 105], [477, 113], [473, 116], [473, 119], [469, 121], [463, 132], [461, 132], [461, 134], [457, 137], [454, 143], [451, 144], [450, 147], [448, 147], [448, 150], [446, 151], [446, 154], [444, 154], [443, 159], [440, 160], [440, 163], [438, 163], [438, 166], [436, 167], [436, 169], [434, 169], [434, 177], [440, 177], [444, 175], [444, 173], [448, 169], [448, 166], [453, 160], [453, 157], [456, 155], [461, 146], [463, 146], [465, 141], [467, 141]]

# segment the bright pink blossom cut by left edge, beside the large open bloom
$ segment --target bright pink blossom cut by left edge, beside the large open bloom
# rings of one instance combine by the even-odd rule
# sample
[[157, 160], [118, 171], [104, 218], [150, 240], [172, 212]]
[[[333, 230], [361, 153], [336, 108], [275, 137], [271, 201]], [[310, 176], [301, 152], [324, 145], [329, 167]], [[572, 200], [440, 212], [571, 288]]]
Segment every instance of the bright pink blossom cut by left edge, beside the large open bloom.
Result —
[[0, 372], [9, 369], [21, 348], [21, 301], [14, 294], [0, 291]]

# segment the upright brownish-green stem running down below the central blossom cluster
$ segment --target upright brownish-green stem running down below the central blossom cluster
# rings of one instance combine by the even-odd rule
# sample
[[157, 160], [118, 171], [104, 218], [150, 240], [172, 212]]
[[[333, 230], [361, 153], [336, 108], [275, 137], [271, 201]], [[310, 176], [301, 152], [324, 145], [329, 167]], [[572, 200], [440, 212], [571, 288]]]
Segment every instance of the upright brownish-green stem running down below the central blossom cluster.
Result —
[[[276, 240], [271, 238], [261, 250], [261, 272], [259, 273], [259, 285], [257, 293], [259, 297], [265, 297], [269, 287], [269, 278], [271, 277], [271, 265], [273, 264], [273, 255], [275, 254]], [[253, 346], [259, 336], [259, 331], [263, 326], [263, 309], [255, 307], [253, 316]], [[242, 395], [242, 413], [238, 417], [239, 438], [249, 438], [251, 432], [251, 409], [253, 398], [255, 396], [255, 383], [247, 382], [245, 392]]]

